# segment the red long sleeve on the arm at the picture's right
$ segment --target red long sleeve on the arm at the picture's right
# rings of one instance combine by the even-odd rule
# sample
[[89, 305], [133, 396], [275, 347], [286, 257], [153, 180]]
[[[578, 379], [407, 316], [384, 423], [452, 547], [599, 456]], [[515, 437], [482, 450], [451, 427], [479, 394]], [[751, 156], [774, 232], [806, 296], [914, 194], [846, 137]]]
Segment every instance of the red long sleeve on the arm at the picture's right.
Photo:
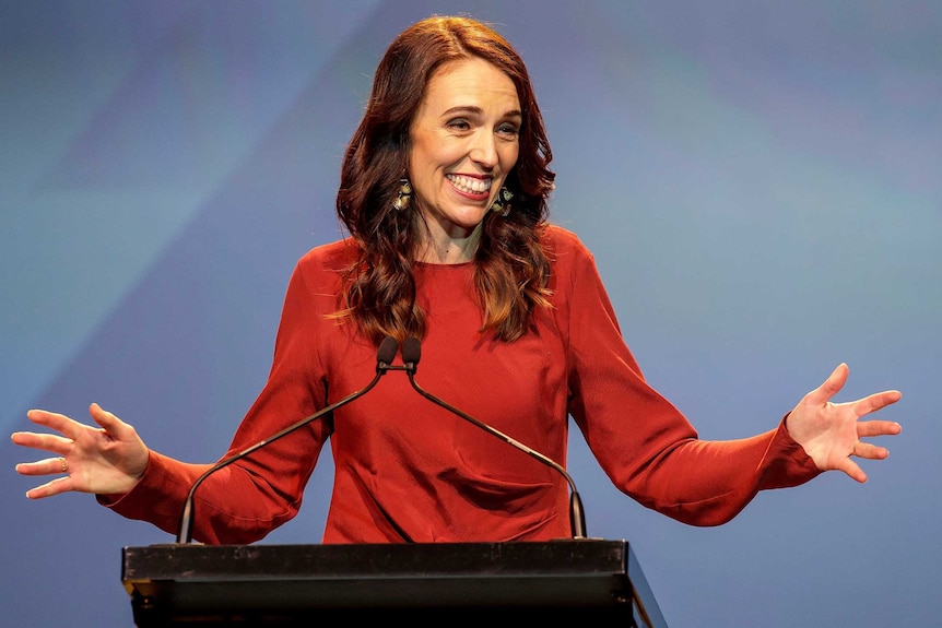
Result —
[[794, 486], [820, 472], [776, 429], [740, 440], [699, 440], [687, 419], [653, 390], [622, 340], [588, 251], [573, 252], [568, 329], [569, 411], [612, 482], [640, 503], [696, 525], [739, 513], [762, 489]]

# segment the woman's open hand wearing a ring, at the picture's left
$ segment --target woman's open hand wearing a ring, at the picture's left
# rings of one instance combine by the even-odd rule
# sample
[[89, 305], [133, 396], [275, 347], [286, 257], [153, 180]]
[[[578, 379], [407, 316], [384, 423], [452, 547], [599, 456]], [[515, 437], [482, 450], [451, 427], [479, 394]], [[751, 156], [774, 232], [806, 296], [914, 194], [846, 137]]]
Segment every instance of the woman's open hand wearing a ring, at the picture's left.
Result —
[[16, 431], [15, 445], [52, 453], [52, 458], [16, 465], [22, 475], [59, 475], [26, 491], [30, 499], [51, 497], [69, 490], [96, 495], [121, 495], [131, 490], [148, 467], [150, 452], [134, 428], [102, 410], [89, 407], [92, 419], [101, 427], [73, 420], [63, 414], [31, 410], [33, 423], [57, 434]]

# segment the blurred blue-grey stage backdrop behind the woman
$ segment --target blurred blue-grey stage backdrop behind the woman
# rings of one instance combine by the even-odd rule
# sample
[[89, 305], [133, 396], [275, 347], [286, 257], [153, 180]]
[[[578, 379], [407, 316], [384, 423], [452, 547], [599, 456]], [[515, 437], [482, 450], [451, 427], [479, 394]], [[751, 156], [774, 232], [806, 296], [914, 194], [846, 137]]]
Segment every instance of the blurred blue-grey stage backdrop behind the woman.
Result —
[[[867, 485], [827, 474], [714, 529], [615, 491], [574, 431], [589, 534], [634, 544], [672, 628], [938, 621], [931, 0], [0, 1], [3, 431], [96, 401], [160, 451], [222, 454], [295, 260], [339, 235], [340, 156], [380, 54], [452, 12], [529, 63], [553, 218], [596, 252], [646, 376], [702, 437], [770, 429], [845, 360], [839, 401], [904, 391]], [[130, 626], [121, 547], [174, 536], [87, 495], [26, 500], [13, 465], [35, 455], [3, 441], [2, 623]], [[326, 459], [264, 542], [318, 542], [331, 482]]]

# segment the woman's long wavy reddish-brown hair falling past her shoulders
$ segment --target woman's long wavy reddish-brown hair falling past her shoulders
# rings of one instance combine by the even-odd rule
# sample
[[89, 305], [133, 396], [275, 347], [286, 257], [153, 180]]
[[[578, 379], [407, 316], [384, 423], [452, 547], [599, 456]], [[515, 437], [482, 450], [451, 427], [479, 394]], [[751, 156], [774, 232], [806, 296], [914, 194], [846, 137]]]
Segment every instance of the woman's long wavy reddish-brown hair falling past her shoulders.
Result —
[[549, 307], [541, 233], [555, 174], [547, 168], [553, 155], [527, 68], [490, 26], [469, 17], [429, 17], [403, 31], [382, 57], [337, 193], [337, 214], [357, 242], [358, 258], [346, 270], [345, 303], [335, 316], [352, 318], [376, 343], [386, 335], [402, 341], [425, 333], [412, 274], [420, 234], [412, 211], [397, 211], [392, 203], [407, 168], [410, 123], [429, 79], [443, 63], [472, 57], [514, 81], [523, 115], [518, 159], [504, 183], [514, 193], [513, 209], [506, 216], [487, 213], [474, 254], [482, 331], [514, 341], [526, 333], [535, 307]]

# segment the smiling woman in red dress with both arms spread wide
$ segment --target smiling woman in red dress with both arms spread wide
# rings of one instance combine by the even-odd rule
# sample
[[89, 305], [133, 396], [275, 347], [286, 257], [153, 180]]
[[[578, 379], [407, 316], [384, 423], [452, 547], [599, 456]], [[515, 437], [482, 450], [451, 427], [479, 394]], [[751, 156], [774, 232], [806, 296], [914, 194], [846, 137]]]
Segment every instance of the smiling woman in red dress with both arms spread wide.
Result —
[[[758, 490], [883, 459], [863, 442], [894, 435], [858, 420], [897, 391], [833, 404], [838, 366], [765, 434], [704, 441], [645, 381], [591, 253], [547, 222], [554, 175], [527, 70], [484, 24], [434, 17], [387, 50], [342, 168], [338, 214], [350, 237], [310, 250], [292, 275], [264, 388], [229, 454], [372, 379], [386, 336], [422, 341], [423, 389], [565, 462], [568, 416], [612, 482], [680, 521], [716, 525]], [[93, 493], [130, 518], [177, 532], [211, 465], [150, 451], [97, 404], [99, 426], [30, 411], [55, 434], [13, 441], [52, 458], [24, 475], [64, 474], [27, 493]], [[569, 535], [563, 475], [429, 403], [404, 377], [210, 475], [193, 537], [242, 544], [290, 520], [325, 443], [335, 465], [325, 543], [541, 541]], [[227, 454], [228, 455], [228, 454]]]

